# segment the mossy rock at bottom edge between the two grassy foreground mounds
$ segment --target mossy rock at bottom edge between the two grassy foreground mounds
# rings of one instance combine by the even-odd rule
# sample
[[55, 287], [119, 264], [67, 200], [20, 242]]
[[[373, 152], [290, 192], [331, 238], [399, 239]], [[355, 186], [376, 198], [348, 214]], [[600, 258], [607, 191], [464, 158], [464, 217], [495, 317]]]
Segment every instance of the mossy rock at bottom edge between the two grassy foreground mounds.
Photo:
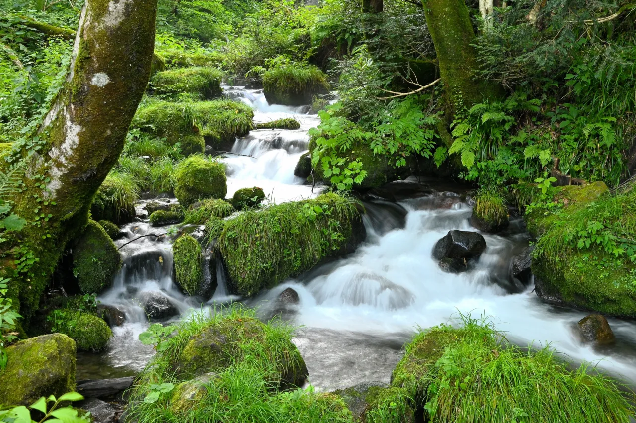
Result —
[[346, 389], [338, 389], [333, 394], [343, 399], [354, 421], [361, 423], [377, 422], [391, 415], [393, 420], [380, 420], [385, 423], [413, 423], [413, 410], [404, 388], [392, 387], [383, 382], [364, 382]]

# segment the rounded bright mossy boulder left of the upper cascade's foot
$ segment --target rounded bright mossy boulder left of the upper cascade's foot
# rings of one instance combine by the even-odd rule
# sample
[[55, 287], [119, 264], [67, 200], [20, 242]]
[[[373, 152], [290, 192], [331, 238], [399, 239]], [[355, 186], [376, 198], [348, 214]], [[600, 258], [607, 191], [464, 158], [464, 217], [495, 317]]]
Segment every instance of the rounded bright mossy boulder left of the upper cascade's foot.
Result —
[[203, 155], [192, 155], [179, 163], [174, 194], [184, 207], [203, 198], [223, 198], [226, 193], [223, 163]]

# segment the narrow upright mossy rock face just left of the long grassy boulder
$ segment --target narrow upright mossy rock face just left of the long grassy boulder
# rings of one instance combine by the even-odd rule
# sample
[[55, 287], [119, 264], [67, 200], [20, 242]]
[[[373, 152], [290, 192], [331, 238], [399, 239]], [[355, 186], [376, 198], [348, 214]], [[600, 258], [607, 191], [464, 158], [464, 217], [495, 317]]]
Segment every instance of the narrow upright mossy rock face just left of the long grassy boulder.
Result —
[[176, 282], [188, 295], [197, 295], [203, 282], [203, 254], [198, 241], [190, 235], [179, 237], [172, 245]]

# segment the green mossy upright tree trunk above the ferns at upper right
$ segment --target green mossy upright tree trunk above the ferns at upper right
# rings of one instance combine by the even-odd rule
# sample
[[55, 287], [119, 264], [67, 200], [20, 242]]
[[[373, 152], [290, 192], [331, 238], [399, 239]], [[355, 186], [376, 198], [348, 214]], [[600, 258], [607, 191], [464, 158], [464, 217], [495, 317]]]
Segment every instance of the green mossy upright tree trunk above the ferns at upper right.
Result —
[[501, 86], [474, 79], [472, 69], [478, 62], [470, 45], [474, 32], [464, 0], [428, 0], [424, 13], [452, 113], [501, 96]]

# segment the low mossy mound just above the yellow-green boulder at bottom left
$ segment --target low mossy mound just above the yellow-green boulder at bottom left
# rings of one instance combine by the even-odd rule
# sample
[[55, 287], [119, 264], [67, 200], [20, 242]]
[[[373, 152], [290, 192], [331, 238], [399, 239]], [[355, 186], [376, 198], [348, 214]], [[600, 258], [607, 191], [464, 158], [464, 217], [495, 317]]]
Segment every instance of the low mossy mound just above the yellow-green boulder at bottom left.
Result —
[[78, 350], [101, 351], [113, 336], [113, 331], [106, 321], [89, 312], [53, 310], [50, 317], [52, 331], [71, 337], [76, 342]]

